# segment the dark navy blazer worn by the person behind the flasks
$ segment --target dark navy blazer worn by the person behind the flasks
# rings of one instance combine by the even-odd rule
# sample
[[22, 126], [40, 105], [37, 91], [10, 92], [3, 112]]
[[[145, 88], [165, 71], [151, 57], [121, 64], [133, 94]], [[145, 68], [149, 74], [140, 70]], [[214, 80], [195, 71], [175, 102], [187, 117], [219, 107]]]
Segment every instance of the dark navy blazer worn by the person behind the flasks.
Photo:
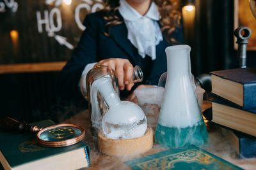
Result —
[[[118, 11], [116, 15], [120, 20], [123, 20]], [[72, 97], [81, 96], [78, 83], [84, 67], [102, 59], [123, 58], [128, 59], [133, 66], [140, 66], [144, 74], [144, 80], [141, 82], [143, 84], [157, 85], [159, 77], [167, 70], [164, 49], [167, 46], [174, 45], [174, 43], [169, 44], [164, 39], [156, 46], [155, 60], [151, 60], [148, 56], [142, 59], [137, 48], [127, 39], [127, 27], [124, 22], [111, 28], [110, 37], [104, 35], [104, 31], [106, 31], [104, 25], [106, 23], [107, 21], [103, 19], [101, 11], [86, 16], [83, 23], [86, 29], [77, 48], [72, 53], [72, 59], [67, 62], [60, 74], [58, 83], [60, 97], [71, 99]], [[161, 27], [161, 25], [159, 26]], [[172, 37], [182, 43], [182, 29], [175, 29]], [[121, 92], [121, 96], [122, 94], [123, 97], [126, 97], [129, 93]]]

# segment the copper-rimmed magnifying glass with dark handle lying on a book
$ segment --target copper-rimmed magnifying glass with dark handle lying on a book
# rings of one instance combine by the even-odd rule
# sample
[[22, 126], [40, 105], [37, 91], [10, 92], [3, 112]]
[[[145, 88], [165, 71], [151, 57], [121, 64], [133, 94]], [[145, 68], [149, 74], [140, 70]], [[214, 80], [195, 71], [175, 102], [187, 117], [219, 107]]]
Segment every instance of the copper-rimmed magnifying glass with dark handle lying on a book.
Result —
[[29, 125], [26, 122], [7, 117], [0, 120], [0, 129], [4, 131], [31, 132], [36, 134], [38, 143], [47, 147], [70, 146], [83, 140], [84, 128], [74, 124], [58, 124], [45, 128]]

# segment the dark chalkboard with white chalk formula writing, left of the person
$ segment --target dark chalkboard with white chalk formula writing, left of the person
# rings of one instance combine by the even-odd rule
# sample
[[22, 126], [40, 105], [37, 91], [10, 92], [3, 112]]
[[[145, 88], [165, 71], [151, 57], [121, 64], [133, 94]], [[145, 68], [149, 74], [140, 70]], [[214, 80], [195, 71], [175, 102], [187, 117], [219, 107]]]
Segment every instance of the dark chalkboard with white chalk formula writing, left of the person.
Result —
[[102, 0], [0, 0], [0, 64], [68, 60]]

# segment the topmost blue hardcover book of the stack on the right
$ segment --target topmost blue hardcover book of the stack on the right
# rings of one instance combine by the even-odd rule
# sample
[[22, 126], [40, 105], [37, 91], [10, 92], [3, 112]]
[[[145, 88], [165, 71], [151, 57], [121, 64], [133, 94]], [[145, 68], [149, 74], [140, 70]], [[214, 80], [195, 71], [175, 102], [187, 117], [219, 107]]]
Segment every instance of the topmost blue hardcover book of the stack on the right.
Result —
[[211, 72], [212, 93], [243, 109], [256, 108], [256, 67]]

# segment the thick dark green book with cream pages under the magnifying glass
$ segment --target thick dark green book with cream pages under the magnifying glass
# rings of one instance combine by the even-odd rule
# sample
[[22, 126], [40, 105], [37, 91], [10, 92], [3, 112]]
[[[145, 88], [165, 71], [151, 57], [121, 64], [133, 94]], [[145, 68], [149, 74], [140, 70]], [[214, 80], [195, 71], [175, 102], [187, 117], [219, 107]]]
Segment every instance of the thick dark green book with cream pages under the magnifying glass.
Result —
[[[38, 127], [54, 124], [51, 120], [33, 123]], [[0, 141], [0, 162], [6, 170], [83, 169], [90, 164], [89, 146], [83, 141], [71, 146], [51, 148], [38, 145], [36, 134], [1, 130]]]

